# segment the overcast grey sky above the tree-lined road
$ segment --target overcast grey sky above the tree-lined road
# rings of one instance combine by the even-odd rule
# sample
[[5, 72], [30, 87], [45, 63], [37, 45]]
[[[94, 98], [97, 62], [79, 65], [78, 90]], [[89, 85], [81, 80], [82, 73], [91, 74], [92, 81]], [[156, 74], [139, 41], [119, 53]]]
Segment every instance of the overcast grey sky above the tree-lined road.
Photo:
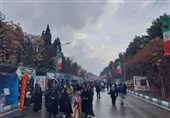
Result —
[[50, 25], [66, 57], [99, 75], [153, 19], [169, 14], [169, 0], [0, 0], [6, 21], [40, 35]]

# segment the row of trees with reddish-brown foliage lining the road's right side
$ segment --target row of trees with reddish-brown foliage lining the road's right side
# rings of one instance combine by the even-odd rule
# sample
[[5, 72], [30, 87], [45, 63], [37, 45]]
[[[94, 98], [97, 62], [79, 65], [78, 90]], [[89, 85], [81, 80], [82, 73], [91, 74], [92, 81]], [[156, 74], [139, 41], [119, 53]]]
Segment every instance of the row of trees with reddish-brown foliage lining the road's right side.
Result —
[[[122, 73], [124, 65], [126, 80], [133, 76], [146, 76], [151, 91], [154, 93], [170, 97], [170, 57], [164, 56], [163, 33], [161, 19], [169, 17], [167, 14], [153, 20], [150, 28], [146, 30], [148, 35], [135, 36], [130, 42], [125, 53], [120, 53], [119, 58], [111, 61], [108, 66], [100, 73], [100, 76], [112, 74], [112, 78], [120, 77], [116, 73], [116, 64], [121, 62]], [[123, 77], [123, 76], [122, 76]]]

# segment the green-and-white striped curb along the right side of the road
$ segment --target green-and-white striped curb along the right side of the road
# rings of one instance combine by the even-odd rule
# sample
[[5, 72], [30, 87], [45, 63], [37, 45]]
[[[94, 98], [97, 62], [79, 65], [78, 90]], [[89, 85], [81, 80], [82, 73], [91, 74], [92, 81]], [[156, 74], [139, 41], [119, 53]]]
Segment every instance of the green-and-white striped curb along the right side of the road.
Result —
[[137, 96], [141, 99], [144, 99], [148, 102], [154, 103], [158, 106], [161, 106], [163, 108], [165, 107], [166, 109], [170, 110], [170, 102], [166, 102], [166, 101], [163, 101], [163, 100], [160, 100], [160, 99], [157, 99], [157, 98], [153, 98], [153, 97], [150, 97], [150, 96], [147, 96], [147, 95], [143, 95], [143, 94], [140, 94], [140, 93], [137, 93], [137, 92], [134, 92], [134, 91], [130, 91], [130, 90], [127, 90], [127, 92], [129, 94]]

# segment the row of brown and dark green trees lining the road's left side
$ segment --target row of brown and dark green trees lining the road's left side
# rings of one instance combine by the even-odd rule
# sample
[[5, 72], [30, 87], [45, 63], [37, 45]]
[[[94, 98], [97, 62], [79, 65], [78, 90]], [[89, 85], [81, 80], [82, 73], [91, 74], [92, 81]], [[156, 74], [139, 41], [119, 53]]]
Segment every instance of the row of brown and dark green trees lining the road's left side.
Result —
[[[49, 25], [42, 35], [31, 35], [23, 32], [19, 24], [1, 22], [0, 72], [14, 72], [19, 65], [35, 68], [37, 74], [55, 72], [62, 46], [59, 38], [52, 43], [51, 37]], [[81, 67], [64, 54], [62, 58], [61, 72], [78, 75]]]

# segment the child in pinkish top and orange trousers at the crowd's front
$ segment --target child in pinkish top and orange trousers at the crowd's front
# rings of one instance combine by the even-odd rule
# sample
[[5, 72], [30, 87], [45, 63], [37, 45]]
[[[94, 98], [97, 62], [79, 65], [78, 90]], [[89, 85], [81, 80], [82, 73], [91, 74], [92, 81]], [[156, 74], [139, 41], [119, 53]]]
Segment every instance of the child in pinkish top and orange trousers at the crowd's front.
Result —
[[80, 118], [80, 102], [81, 102], [81, 96], [80, 96], [80, 92], [78, 91], [74, 97], [74, 118], [76, 118], [77, 111], [78, 111], [78, 118]]

